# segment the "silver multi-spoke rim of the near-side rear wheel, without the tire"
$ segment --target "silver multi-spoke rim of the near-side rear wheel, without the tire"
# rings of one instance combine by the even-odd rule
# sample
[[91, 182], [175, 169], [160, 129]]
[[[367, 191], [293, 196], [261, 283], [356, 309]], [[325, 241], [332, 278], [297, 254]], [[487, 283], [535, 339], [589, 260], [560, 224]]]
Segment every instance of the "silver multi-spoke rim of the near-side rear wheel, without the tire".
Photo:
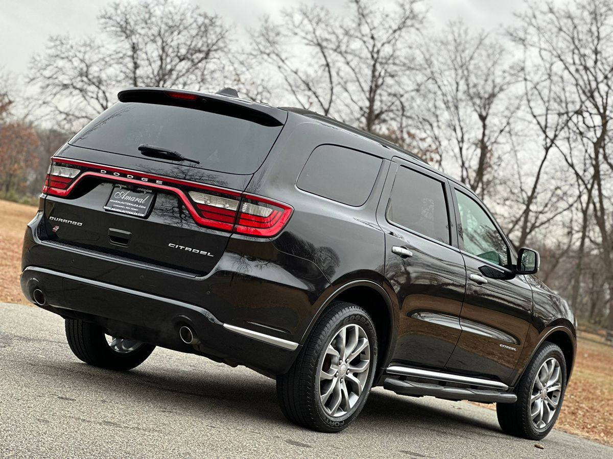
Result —
[[364, 391], [370, 368], [370, 342], [364, 329], [347, 325], [324, 349], [319, 370], [319, 397], [329, 416], [351, 411]]

